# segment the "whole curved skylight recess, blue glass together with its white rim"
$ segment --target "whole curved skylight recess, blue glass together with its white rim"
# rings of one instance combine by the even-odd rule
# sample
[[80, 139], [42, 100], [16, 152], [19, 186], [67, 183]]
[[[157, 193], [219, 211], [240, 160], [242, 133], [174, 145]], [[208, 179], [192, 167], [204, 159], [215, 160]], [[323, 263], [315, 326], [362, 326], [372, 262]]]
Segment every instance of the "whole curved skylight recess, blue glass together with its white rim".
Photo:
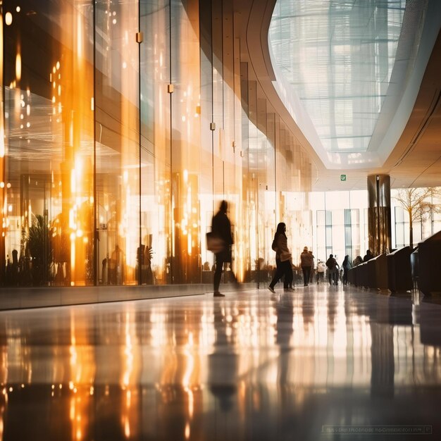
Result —
[[275, 88], [325, 166], [381, 166], [395, 147], [437, 37], [433, 4], [277, 1]]

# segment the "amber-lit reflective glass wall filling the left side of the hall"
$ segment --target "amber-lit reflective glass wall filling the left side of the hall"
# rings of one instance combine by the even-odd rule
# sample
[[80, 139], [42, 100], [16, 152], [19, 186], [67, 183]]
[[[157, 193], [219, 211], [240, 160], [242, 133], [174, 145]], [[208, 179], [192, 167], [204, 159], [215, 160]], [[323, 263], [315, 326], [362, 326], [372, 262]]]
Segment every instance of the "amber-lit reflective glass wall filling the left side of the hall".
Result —
[[242, 282], [274, 264], [278, 222], [294, 252], [311, 237], [311, 163], [232, 1], [1, 8], [0, 285], [211, 282], [222, 199]]

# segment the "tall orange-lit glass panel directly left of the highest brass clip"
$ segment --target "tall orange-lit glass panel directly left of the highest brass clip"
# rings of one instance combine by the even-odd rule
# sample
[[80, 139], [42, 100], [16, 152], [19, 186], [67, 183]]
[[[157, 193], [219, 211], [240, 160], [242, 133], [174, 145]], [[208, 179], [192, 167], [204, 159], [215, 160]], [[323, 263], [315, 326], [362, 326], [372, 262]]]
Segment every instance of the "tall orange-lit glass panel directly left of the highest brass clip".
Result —
[[139, 248], [137, 0], [96, 1], [96, 209], [99, 281], [136, 283]]

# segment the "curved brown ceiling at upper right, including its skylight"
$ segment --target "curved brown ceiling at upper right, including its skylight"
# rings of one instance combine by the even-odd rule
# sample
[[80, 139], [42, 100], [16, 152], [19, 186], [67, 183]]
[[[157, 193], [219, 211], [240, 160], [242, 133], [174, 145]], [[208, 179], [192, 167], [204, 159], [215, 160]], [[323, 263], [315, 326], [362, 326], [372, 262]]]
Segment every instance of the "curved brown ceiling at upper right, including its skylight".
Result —
[[[383, 36], [386, 35], [391, 40], [396, 40], [398, 36], [399, 42], [386, 43], [390, 55], [382, 61], [384, 74], [382, 78], [387, 80], [387, 83], [384, 81], [375, 83], [371, 92], [376, 92], [371, 93], [372, 98], [366, 99], [368, 94], [362, 91], [366, 92], [366, 85], [375, 74], [375, 69], [371, 69], [371, 64], [374, 64], [373, 59], [369, 60], [367, 55], [364, 58], [358, 57], [358, 60], [354, 57], [354, 66], [352, 66], [350, 57], [338, 56], [331, 59], [329, 51], [323, 54], [323, 42], [331, 40], [340, 42], [335, 33], [339, 30], [338, 23], [344, 19], [341, 11], [337, 11], [335, 6], [341, 4], [344, 8], [360, 8], [360, 2], [358, 0], [280, 1], [291, 5], [299, 4], [302, 7], [308, 4], [314, 6], [309, 15], [316, 15], [312, 19], [315, 25], [311, 25], [311, 17], [305, 18], [308, 15], [303, 9], [297, 9], [293, 14], [292, 8], [285, 8], [285, 16], [282, 20], [288, 24], [278, 25], [278, 32], [272, 31], [276, 36], [275, 45], [278, 46], [275, 50], [280, 49], [278, 55], [279, 61], [282, 60], [280, 65], [275, 63], [273, 50], [268, 46], [271, 18], [273, 14], [278, 20], [283, 16], [280, 5], [278, 6], [275, 0], [254, 0], [248, 4], [244, 2], [243, 8], [247, 9], [245, 4], [249, 7], [248, 11], [244, 9], [241, 11], [242, 14], [247, 13], [249, 18], [246, 30], [247, 49], [251, 66], [267, 99], [271, 101], [285, 124], [290, 127], [311, 157], [313, 190], [366, 189], [366, 176], [379, 173], [389, 174], [394, 188], [440, 186], [441, 2], [436, 0], [376, 2], [383, 9], [387, 4], [397, 8], [405, 4], [406, 8], [413, 9], [411, 11], [406, 9], [406, 13], [392, 12], [390, 15], [393, 17], [393, 23], [390, 23], [392, 31], [389, 33], [387, 20], [384, 20], [387, 14], [383, 11], [383, 15], [380, 15], [383, 18]], [[325, 3], [328, 6], [333, 4], [333, 8], [321, 8]], [[366, 3], [361, 2], [362, 5]], [[372, 5], [372, 2], [369, 3]], [[421, 9], [421, 6], [426, 6], [426, 9]], [[375, 45], [375, 39], [379, 38], [378, 31], [373, 31], [375, 23], [372, 24], [375, 7], [369, 11], [370, 14], [366, 14], [366, 8], [364, 11], [356, 11], [356, 27], [352, 32], [344, 31], [346, 27], [342, 27], [340, 23], [341, 32], [346, 32], [344, 44], [350, 44], [348, 35], [356, 35], [355, 52], [358, 51], [357, 48], [362, 40], [360, 32], [356, 34], [356, 30], [360, 27], [364, 27], [364, 31], [368, 32], [366, 45]], [[330, 17], [331, 14], [334, 14], [333, 17]], [[293, 15], [296, 17], [293, 18]], [[363, 15], [368, 17], [361, 18]], [[330, 25], [333, 20], [337, 26]], [[398, 32], [397, 26], [401, 27], [400, 20], [404, 23], [404, 28]], [[310, 49], [313, 48], [311, 51], [306, 51], [306, 54], [323, 54], [321, 58], [316, 56], [310, 60], [310, 65], [304, 68], [303, 73], [300, 72], [298, 65], [305, 64], [308, 57], [302, 52], [302, 44], [300, 44], [302, 38], [298, 35], [299, 32], [295, 33], [295, 29], [298, 28], [311, 31], [303, 31], [306, 44]], [[325, 32], [324, 36], [320, 34], [321, 31]], [[255, 44], [256, 38], [261, 42], [260, 47]], [[282, 41], [284, 38], [287, 42]], [[297, 49], [294, 50], [294, 46]], [[343, 50], [351, 53], [347, 47]], [[354, 48], [352, 51], [354, 52]], [[371, 53], [375, 54], [375, 50], [371, 50]], [[338, 69], [339, 60], [343, 64], [346, 63], [341, 70]], [[356, 61], [362, 63], [361, 67], [355, 66]], [[320, 66], [318, 63], [321, 63]], [[327, 63], [328, 70], [326, 70]], [[294, 66], [294, 71], [289, 72], [290, 66]], [[320, 75], [313, 75], [314, 66], [320, 68]], [[368, 71], [364, 77], [361, 75], [363, 69]], [[283, 70], [283, 75], [280, 70]], [[338, 72], [341, 75], [337, 75]], [[352, 75], [349, 75], [351, 72]], [[354, 75], [354, 72], [357, 75]], [[365, 82], [361, 87], [356, 85], [359, 77], [363, 77]], [[342, 101], [346, 108], [365, 106], [364, 111], [370, 109], [370, 120], [376, 118], [374, 123], [370, 121], [364, 125], [361, 118], [358, 122], [354, 121], [354, 112], [345, 111], [341, 103], [335, 105], [336, 89], [335, 86], [330, 85], [333, 80], [340, 87], [339, 97], [345, 94]], [[392, 85], [388, 85], [389, 82], [392, 82]], [[314, 99], [309, 100], [309, 97]], [[349, 102], [351, 98], [354, 99], [352, 104]], [[321, 105], [317, 105], [318, 102], [321, 102]], [[380, 103], [376, 115], [372, 112], [374, 102]], [[339, 123], [337, 128], [332, 127], [335, 121]], [[338, 139], [340, 136], [335, 136], [335, 139], [331, 140], [328, 136], [330, 133], [346, 138], [342, 142], [340, 142], [342, 139]], [[360, 133], [365, 137], [363, 142], [357, 139]], [[342, 174], [346, 175], [346, 180], [341, 180]]]

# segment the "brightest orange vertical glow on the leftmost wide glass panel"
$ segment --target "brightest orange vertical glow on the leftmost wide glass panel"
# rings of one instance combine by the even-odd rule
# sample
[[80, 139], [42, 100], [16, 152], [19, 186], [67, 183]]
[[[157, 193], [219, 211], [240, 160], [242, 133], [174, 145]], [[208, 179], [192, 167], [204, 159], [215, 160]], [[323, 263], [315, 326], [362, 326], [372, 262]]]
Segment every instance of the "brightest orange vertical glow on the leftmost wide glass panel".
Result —
[[73, 56], [67, 56], [67, 49], [61, 51], [48, 74], [52, 83], [52, 123], [63, 139], [58, 188], [61, 207], [56, 210], [52, 237], [58, 266], [63, 267], [63, 276], [69, 273], [66, 279], [74, 286], [93, 282], [93, 113], [89, 107], [93, 85], [82, 81], [73, 87], [75, 78], [92, 76], [90, 46], [84, 32], [91, 16], [75, 6], [66, 8], [71, 18], [65, 25], [72, 35]]

